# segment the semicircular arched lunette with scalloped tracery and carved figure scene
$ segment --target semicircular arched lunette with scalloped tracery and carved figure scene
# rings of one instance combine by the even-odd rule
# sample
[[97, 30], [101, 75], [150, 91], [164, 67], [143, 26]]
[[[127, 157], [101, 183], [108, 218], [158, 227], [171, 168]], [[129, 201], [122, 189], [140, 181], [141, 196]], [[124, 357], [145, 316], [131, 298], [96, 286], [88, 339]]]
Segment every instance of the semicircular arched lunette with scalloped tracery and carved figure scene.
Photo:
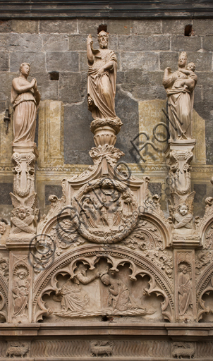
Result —
[[[61, 277], [63, 281], [59, 281]], [[142, 281], [143, 277], [147, 281]], [[104, 315], [153, 318], [159, 302], [154, 299], [149, 305], [146, 298], [153, 293], [162, 296], [163, 317], [171, 321], [172, 283], [154, 262], [123, 247], [104, 250], [82, 246], [61, 256], [35, 282], [35, 322], [43, 314], [53, 319]], [[47, 305], [45, 295], [49, 295]]]

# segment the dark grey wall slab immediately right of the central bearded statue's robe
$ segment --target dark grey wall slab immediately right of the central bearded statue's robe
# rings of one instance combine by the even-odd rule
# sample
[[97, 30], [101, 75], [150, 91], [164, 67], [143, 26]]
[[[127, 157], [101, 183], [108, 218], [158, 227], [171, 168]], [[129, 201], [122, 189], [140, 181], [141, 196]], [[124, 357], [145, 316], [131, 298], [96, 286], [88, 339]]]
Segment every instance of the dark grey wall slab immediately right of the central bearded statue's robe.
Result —
[[121, 118], [123, 123], [116, 140], [116, 147], [125, 153], [120, 160], [135, 163], [137, 152], [130, 140], [133, 140], [139, 133], [138, 102], [123, 94], [118, 88], [116, 91], [116, 115]]

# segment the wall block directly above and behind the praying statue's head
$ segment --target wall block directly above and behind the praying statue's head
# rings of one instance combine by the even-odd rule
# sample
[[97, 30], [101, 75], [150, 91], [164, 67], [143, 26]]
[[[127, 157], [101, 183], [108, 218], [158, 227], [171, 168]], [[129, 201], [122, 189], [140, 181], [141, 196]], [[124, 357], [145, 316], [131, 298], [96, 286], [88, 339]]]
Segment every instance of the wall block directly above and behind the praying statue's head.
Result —
[[[45, 73], [45, 54], [40, 52], [12, 51], [10, 54], [10, 70], [19, 73], [21, 63], [30, 64], [30, 75], [34, 73]], [[19, 75], [19, 74], [18, 74]]]

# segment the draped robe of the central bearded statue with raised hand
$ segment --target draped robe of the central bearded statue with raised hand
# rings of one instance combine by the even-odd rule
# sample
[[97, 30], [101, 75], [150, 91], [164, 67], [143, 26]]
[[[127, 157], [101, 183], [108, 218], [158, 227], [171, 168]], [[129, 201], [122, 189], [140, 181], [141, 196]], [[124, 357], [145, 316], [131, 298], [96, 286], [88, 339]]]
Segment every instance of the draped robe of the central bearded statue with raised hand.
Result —
[[[116, 72], [117, 60], [114, 51], [109, 49], [93, 50], [94, 63], [89, 63], [88, 68], [88, 96], [90, 96], [95, 106], [92, 106], [92, 117], [102, 119], [114, 119], [115, 113], [115, 94], [116, 94]], [[113, 61], [111, 70], [104, 71], [99, 77], [98, 70], [109, 61]]]

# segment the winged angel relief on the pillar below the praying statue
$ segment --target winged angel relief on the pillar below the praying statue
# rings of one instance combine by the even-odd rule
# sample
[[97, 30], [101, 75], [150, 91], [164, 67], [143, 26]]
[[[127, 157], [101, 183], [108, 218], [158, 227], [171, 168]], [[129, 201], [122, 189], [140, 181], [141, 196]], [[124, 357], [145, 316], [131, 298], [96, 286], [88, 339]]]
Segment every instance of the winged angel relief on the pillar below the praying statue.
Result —
[[11, 234], [35, 233], [37, 221], [36, 193], [29, 195], [24, 204], [16, 195], [10, 194], [14, 207], [11, 218]]

